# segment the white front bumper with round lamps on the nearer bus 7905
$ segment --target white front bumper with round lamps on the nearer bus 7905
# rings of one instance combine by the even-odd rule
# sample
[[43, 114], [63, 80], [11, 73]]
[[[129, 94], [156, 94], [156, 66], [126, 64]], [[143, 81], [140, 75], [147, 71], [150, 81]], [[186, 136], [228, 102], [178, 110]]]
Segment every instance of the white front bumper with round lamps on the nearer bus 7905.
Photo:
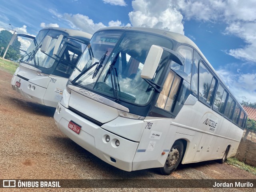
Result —
[[[138, 142], [108, 132], [65, 108], [60, 103], [56, 108], [54, 119], [61, 132], [78, 145], [112, 166], [125, 171], [132, 171], [132, 161], [138, 148]], [[81, 126], [79, 134], [68, 128], [70, 121]], [[106, 142], [106, 136], [110, 137], [109, 142]], [[116, 146], [116, 140], [120, 142], [119, 146]]]

